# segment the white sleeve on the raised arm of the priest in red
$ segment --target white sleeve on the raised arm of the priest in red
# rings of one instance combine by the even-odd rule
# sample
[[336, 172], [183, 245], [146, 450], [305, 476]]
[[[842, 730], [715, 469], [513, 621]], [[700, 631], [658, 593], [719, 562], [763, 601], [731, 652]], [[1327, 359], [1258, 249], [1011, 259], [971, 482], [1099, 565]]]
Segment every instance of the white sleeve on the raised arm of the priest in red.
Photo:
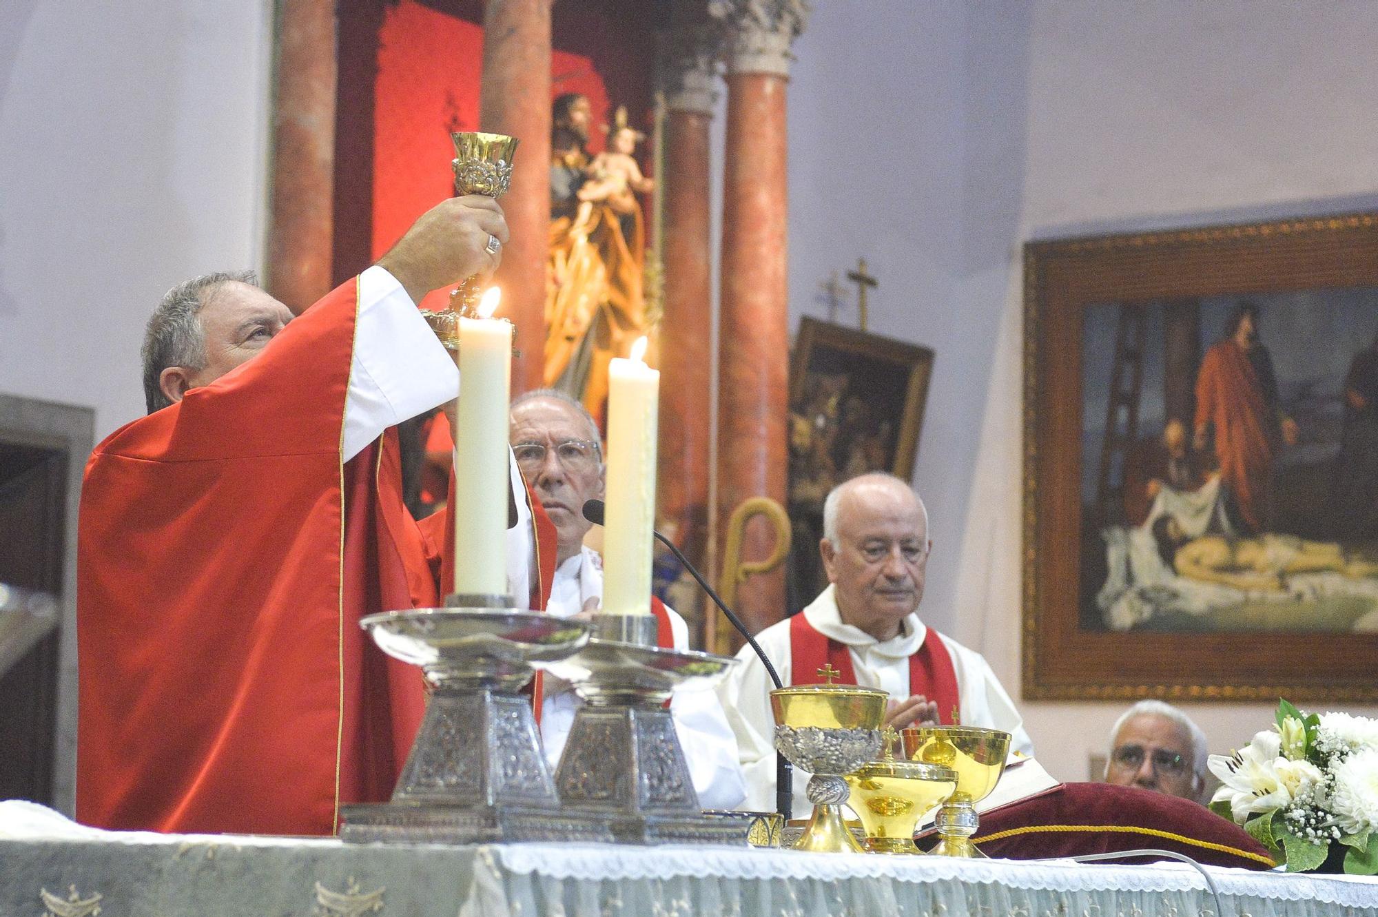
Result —
[[459, 368], [397, 278], [376, 264], [360, 274], [343, 460], [457, 394]]

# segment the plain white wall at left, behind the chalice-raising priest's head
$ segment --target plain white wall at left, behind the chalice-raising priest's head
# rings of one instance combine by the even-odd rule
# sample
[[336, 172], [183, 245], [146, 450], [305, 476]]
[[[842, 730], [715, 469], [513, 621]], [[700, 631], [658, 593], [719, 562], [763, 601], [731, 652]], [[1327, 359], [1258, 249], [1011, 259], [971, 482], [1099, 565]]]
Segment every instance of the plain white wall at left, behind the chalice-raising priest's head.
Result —
[[269, 0], [0, 4], [0, 391], [143, 413], [158, 297], [256, 267]]

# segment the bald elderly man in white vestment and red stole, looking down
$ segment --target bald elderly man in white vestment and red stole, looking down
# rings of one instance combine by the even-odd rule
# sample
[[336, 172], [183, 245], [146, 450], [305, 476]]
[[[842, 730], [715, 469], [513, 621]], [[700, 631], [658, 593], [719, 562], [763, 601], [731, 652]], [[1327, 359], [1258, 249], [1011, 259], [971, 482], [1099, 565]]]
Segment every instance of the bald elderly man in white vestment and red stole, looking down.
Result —
[[[919, 602], [927, 570], [927, 511], [908, 483], [868, 474], [838, 485], [823, 504], [819, 551], [828, 574], [823, 593], [757, 640], [785, 684], [816, 684], [831, 665], [838, 684], [890, 694], [887, 723], [985, 726], [1011, 732], [1032, 755], [1010, 695], [978, 653], [923, 625]], [[750, 647], [719, 688], [747, 775], [748, 810], [774, 808], [770, 679]], [[808, 774], [795, 774], [794, 811], [809, 811]]]

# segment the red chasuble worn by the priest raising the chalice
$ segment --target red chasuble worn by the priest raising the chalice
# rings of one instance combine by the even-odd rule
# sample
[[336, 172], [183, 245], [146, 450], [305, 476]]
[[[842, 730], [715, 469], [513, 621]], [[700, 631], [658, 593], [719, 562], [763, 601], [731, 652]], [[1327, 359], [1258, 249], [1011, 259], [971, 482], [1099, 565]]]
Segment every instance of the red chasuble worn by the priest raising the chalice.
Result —
[[393, 431], [340, 461], [356, 284], [96, 446], [77, 559], [77, 818], [328, 834], [391, 793], [420, 673], [358, 620], [434, 606]]

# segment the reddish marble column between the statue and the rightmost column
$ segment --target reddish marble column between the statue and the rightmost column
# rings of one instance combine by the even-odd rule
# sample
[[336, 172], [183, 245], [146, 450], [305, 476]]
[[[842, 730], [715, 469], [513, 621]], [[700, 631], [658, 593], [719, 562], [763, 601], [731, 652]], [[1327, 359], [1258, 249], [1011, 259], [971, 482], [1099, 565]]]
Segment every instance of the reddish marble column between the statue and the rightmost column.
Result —
[[712, 289], [708, 234], [708, 125], [718, 99], [717, 41], [703, 25], [668, 36], [666, 98], [664, 313], [660, 322], [661, 525], [703, 566], [708, 533], [708, 436], [712, 403]]

